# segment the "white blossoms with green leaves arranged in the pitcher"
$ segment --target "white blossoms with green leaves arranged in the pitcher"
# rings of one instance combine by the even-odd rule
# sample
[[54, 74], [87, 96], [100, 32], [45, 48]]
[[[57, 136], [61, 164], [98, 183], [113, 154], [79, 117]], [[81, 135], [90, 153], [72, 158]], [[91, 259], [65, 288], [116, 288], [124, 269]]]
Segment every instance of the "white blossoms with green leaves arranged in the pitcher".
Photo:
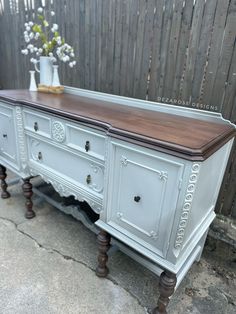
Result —
[[[59, 27], [56, 23], [53, 23], [52, 27], [49, 26], [43, 8], [38, 8], [37, 12], [39, 23], [32, 21], [25, 23], [24, 40], [27, 46], [21, 50], [21, 53], [25, 56], [35, 55], [35, 57], [30, 58], [33, 64], [38, 62], [37, 58], [40, 56], [47, 56], [53, 62], [57, 58], [65, 63], [68, 62], [69, 66], [73, 68], [76, 65], [73, 47], [68, 45], [65, 39], [60, 36]], [[51, 11], [50, 15], [55, 16], [55, 12]]]

